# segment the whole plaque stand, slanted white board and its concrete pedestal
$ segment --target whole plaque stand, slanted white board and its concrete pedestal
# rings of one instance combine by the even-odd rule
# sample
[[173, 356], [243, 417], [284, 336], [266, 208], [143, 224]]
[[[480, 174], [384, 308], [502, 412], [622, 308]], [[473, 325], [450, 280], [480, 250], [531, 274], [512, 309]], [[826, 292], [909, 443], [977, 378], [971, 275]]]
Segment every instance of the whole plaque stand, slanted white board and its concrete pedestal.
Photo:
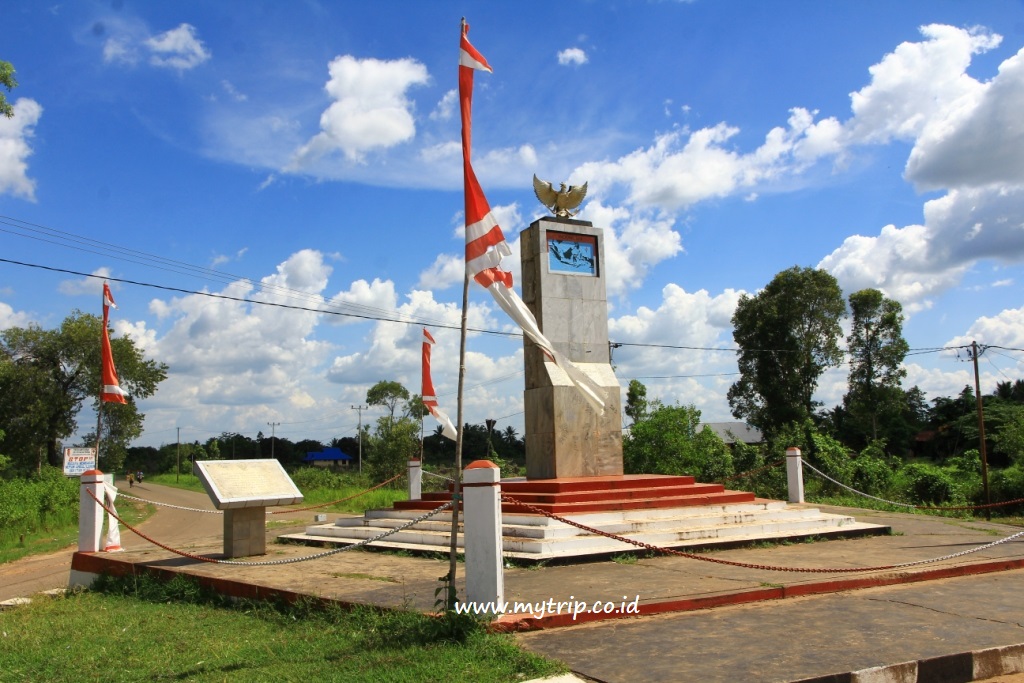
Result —
[[224, 555], [266, 554], [266, 508], [302, 502], [302, 493], [276, 460], [201, 460], [196, 475], [224, 511]]

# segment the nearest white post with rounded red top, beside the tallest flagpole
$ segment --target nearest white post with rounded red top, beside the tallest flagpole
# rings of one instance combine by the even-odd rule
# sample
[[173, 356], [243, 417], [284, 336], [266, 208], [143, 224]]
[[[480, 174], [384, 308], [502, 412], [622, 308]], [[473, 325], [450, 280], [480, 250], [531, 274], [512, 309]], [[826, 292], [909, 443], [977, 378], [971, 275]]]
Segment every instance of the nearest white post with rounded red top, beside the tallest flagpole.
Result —
[[474, 461], [463, 472], [462, 485], [466, 600], [497, 605], [505, 600], [501, 470], [489, 460]]

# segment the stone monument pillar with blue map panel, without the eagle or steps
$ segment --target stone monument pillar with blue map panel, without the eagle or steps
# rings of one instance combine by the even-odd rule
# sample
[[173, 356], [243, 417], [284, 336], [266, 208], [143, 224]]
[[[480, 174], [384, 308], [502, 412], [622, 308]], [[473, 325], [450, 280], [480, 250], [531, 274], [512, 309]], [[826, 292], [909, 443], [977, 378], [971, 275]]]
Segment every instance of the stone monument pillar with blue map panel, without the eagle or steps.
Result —
[[526, 369], [526, 477], [623, 473], [618, 380], [608, 347], [604, 233], [591, 223], [549, 216], [520, 233], [522, 299], [552, 345], [603, 391], [598, 414], [537, 345]]

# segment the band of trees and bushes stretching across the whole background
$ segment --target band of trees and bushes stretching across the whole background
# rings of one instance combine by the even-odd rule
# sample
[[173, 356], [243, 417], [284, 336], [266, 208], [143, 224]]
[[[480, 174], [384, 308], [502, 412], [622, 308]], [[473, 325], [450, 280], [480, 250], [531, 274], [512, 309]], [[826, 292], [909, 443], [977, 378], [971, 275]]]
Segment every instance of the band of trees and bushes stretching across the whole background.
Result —
[[[846, 316], [850, 332], [844, 340]], [[904, 388], [903, 319], [899, 303], [878, 290], [855, 292], [845, 300], [825, 271], [794, 267], [778, 273], [763, 291], [740, 297], [732, 317], [740, 375], [728, 400], [737, 419], [763, 432], [760, 452], [741, 444], [727, 447], [705, 433], [695, 409], [648, 401], [646, 387], [634, 380], [625, 409], [627, 467], [689, 470], [714, 480], [770, 460], [774, 451], [788, 445], [824, 459], [844, 454], [840, 460], [852, 460], [866, 453], [881, 454], [888, 463], [920, 460], [945, 466], [972, 458], [980, 449], [974, 389], [965, 386], [957, 396], [929, 400], [919, 387]], [[76, 310], [54, 330], [29, 326], [0, 332], [2, 476], [22, 476], [43, 464], [60, 466], [79, 412], [96, 405], [100, 326], [97, 316]], [[111, 343], [131, 397], [124, 405], [105, 407], [99, 461], [105, 471], [186, 472], [196, 460], [229, 458], [273, 457], [298, 465], [326, 445], [353, 457], [361, 450], [365, 471], [378, 480], [401, 472], [413, 457], [422, 455], [427, 465], [438, 467], [454, 461], [455, 443], [439, 428], [423, 434], [426, 410], [420, 396], [392, 380], [378, 382], [366, 395], [367, 404], [382, 415], [362, 425], [361, 433], [329, 443], [224, 432], [203, 442], [132, 447], [144, 418], [135, 401], [155, 393], [168, 367], [145, 358], [129, 337], [112, 337]], [[842, 362], [849, 362], [847, 392], [840, 404], [824, 409], [813, 398], [818, 380]], [[1000, 382], [983, 396], [983, 405], [989, 463], [1009, 472], [1024, 458], [1024, 381]], [[513, 427], [466, 424], [463, 438], [473, 458], [489, 458], [510, 475], [521, 473], [525, 446]], [[94, 440], [94, 432], [83, 439], [87, 445]]]

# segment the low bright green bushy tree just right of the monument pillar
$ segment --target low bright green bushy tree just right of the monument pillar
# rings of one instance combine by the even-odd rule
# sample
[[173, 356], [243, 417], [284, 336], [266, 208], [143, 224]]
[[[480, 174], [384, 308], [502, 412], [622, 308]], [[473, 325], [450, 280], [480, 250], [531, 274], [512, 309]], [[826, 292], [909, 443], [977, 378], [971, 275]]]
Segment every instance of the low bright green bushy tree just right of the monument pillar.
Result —
[[657, 400], [651, 409], [623, 438], [627, 473], [689, 474], [701, 481], [732, 474], [729, 447], [711, 427], [700, 428], [700, 411]]

